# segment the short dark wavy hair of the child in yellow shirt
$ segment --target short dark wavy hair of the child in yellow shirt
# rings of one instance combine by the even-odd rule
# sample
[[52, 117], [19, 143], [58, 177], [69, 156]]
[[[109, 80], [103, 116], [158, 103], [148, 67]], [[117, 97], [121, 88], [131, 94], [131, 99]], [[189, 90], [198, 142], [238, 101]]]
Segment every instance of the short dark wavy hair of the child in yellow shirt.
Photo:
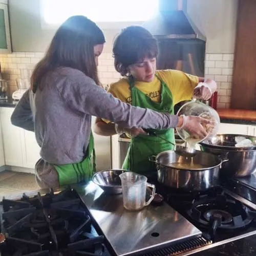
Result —
[[128, 67], [144, 58], [158, 55], [157, 39], [140, 26], [130, 26], [116, 37], [113, 46], [115, 69], [122, 76], [129, 75]]

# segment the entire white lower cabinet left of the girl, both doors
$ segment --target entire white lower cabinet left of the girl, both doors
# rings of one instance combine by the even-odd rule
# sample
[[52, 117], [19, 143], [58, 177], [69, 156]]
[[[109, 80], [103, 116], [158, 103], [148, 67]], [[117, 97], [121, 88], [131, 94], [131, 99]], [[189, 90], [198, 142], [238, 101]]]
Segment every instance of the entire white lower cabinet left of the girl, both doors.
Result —
[[35, 134], [11, 123], [13, 108], [0, 108], [5, 164], [34, 168], [40, 158]]

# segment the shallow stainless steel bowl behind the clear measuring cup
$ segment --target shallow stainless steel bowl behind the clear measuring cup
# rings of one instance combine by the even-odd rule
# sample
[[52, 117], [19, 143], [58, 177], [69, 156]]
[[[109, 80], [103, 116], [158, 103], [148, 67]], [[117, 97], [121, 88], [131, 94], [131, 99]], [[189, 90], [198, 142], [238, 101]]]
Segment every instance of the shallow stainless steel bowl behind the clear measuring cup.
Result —
[[101, 187], [107, 194], [121, 194], [122, 185], [119, 175], [127, 172], [123, 169], [101, 170], [94, 174], [92, 181]]

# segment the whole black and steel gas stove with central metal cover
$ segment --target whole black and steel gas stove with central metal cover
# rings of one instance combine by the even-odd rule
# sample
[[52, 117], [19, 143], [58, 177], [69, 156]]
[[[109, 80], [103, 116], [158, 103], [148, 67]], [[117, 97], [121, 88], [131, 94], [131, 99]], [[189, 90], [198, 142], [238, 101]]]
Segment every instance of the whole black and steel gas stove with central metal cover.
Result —
[[163, 203], [140, 211], [125, 210], [122, 195], [92, 182], [6, 198], [0, 255], [191, 255], [256, 234], [256, 188], [245, 183], [229, 180], [207, 191], [156, 183]]

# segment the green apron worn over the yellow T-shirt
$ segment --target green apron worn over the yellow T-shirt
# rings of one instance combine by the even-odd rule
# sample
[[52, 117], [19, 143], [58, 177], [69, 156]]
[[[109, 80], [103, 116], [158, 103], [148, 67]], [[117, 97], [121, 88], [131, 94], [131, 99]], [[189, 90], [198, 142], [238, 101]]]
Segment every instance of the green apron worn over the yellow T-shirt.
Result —
[[[131, 87], [132, 105], [152, 109], [157, 112], [173, 114], [172, 92], [163, 80], [157, 75], [156, 77], [161, 82], [161, 102], [158, 103], [151, 100], [150, 97], [135, 87], [134, 79], [130, 78], [129, 84]], [[123, 169], [140, 174], [156, 172], [155, 163], [150, 162], [148, 157], [152, 155], [156, 156], [163, 151], [174, 149], [174, 146], [171, 143], [165, 141], [167, 140], [175, 143], [174, 129], [150, 130], [154, 131], [157, 136], [139, 135], [131, 139], [129, 150], [122, 165]]]

